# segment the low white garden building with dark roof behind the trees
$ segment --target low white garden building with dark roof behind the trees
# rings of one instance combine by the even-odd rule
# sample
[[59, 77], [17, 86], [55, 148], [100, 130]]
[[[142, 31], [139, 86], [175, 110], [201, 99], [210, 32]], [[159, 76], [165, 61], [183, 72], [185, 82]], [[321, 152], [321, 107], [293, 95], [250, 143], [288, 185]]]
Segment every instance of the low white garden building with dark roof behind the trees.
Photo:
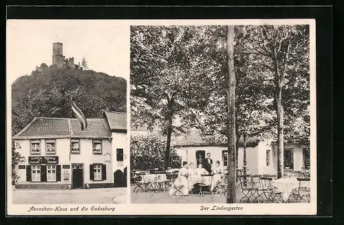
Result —
[[[238, 145], [238, 168], [244, 166], [244, 144], [241, 139]], [[228, 165], [227, 147], [224, 141], [214, 141], [202, 137], [196, 132], [182, 137], [174, 143], [182, 161], [195, 163], [197, 158], [205, 158], [211, 153], [213, 162], [220, 161], [222, 167]], [[248, 137], [246, 140], [246, 168], [248, 174], [277, 174], [277, 145], [275, 142], [259, 137]], [[310, 169], [310, 148], [308, 145], [295, 143], [284, 144], [284, 168], [286, 171]]]

